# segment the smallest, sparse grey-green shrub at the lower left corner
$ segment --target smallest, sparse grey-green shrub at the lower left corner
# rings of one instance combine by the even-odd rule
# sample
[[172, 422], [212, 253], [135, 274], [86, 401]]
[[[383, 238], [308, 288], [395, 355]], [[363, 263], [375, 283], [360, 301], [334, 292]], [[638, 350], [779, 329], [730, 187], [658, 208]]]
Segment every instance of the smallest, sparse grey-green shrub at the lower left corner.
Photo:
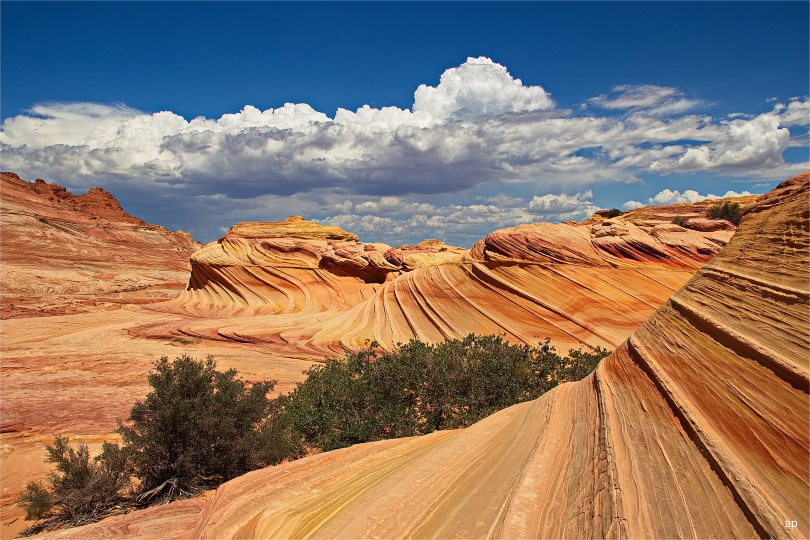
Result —
[[68, 441], [55, 436], [53, 445], [45, 446], [45, 462], [56, 464], [53, 472], [45, 474], [48, 485], [28, 483], [19, 497], [25, 519], [36, 520], [23, 534], [92, 523], [122, 508], [126, 500], [124, 492], [130, 485], [126, 458], [109, 449], [92, 459], [87, 444], [73, 449]]

